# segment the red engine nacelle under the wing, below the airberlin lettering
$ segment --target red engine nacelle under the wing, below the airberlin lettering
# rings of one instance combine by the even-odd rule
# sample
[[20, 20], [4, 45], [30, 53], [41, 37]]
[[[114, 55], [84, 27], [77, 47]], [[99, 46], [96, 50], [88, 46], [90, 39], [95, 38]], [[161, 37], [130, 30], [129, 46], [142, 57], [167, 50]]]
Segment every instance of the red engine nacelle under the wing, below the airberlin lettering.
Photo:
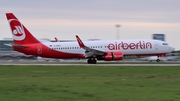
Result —
[[122, 52], [108, 52], [104, 55], [105, 61], [122, 60], [122, 59], [123, 59]]

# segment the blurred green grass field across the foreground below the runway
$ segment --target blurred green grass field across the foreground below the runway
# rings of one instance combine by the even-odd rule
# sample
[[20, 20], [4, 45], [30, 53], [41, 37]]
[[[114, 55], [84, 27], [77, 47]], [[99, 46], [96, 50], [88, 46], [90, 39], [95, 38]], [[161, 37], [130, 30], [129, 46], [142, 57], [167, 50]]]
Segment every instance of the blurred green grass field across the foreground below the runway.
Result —
[[0, 66], [0, 101], [179, 101], [180, 67]]

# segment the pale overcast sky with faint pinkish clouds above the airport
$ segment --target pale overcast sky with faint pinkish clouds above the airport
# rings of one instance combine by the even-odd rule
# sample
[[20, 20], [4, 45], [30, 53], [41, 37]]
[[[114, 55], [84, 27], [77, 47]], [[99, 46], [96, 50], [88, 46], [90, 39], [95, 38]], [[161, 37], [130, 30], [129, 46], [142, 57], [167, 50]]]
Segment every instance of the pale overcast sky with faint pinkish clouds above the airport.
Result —
[[0, 39], [11, 38], [12, 12], [38, 39], [150, 39], [166, 34], [180, 50], [180, 0], [0, 0]]

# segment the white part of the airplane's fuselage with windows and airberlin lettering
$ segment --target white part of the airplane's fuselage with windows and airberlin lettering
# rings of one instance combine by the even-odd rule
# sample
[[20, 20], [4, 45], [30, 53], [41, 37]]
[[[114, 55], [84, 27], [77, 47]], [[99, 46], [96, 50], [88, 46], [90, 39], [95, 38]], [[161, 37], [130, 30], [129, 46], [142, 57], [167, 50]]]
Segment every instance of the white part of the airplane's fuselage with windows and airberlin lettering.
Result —
[[[92, 49], [104, 52], [120, 51], [123, 55], [158, 54], [169, 53], [174, 50], [166, 42], [151, 39], [136, 40], [98, 40], [83, 41], [84, 44]], [[43, 43], [50, 49], [73, 54], [84, 54], [85, 50], [80, 48], [78, 42], [46, 42]]]

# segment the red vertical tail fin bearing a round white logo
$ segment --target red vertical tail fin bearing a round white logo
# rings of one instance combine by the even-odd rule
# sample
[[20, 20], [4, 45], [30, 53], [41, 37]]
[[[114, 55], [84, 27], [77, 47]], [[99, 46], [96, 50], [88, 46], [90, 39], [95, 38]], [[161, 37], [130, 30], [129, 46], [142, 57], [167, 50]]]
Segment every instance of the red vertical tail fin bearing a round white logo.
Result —
[[15, 44], [39, 43], [39, 41], [19, 22], [13, 13], [6, 13]]

